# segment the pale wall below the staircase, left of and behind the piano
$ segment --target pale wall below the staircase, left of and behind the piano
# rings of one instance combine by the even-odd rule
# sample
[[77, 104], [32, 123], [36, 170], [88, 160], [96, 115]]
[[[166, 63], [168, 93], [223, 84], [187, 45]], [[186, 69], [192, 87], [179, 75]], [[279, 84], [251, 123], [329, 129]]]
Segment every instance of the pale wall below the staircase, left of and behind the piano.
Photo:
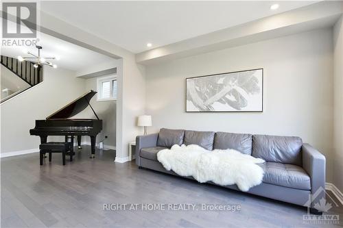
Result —
[[1, 153], [36, 149], [38, 136], [30, 136], [35, 120], [47, 116], [84, 93], [85, 79], [73, 71], [45, 67], [43, 82], [1, 104]]

